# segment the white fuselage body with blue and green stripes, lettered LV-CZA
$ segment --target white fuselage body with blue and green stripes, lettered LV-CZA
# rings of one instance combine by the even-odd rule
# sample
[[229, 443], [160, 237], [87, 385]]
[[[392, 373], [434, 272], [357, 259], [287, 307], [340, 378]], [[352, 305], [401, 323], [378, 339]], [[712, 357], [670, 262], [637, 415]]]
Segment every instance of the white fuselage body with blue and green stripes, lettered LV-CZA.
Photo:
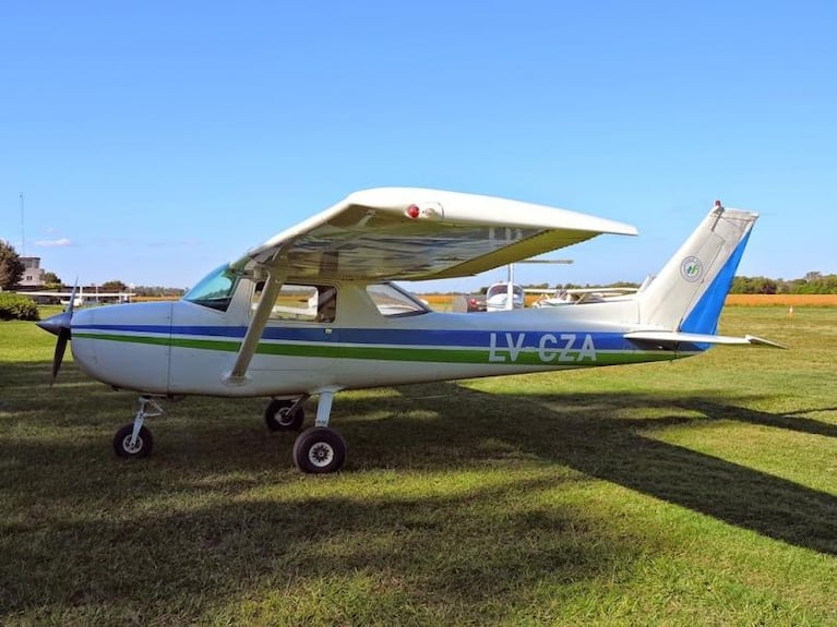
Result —
[[[650, 350], [624, 339], [637, 328], [633, 302], [387, 316], [364, 286], [336, 287], [333, 322], [270, 322], [243, 378], [225, 375], [250, 323], [250, 281], [227, 311], [187, 300], [80, 311], [72, 321], [73, 355], [87, 374], [118, 388], [283, 396], [670, 360], [697, 350]], [[598, 308], [607, 310], [597, 315]]]

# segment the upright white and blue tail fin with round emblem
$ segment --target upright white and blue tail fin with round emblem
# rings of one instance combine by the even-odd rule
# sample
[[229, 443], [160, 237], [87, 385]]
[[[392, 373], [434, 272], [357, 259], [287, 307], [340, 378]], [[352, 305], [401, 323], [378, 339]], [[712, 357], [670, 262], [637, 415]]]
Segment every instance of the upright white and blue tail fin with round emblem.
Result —
[[643, 324], [714, 334], [757, 214], [720, 202], [638, 294]]

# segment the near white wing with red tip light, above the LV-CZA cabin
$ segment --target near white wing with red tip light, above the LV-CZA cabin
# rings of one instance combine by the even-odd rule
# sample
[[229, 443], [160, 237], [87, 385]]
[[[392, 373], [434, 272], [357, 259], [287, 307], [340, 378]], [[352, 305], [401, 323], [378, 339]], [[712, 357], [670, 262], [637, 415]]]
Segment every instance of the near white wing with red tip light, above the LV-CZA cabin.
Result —
[[493, 196], [417, 188], [356, 192], [236, 262], [284, 280], [425, 280], [479, 274], [630, 225]]

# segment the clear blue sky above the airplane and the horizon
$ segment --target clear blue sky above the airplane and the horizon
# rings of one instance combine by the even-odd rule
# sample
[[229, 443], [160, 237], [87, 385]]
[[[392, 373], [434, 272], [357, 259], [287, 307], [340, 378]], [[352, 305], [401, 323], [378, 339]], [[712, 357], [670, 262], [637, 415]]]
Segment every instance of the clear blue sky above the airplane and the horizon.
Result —
[[[65, 281], [187, 287], [351, 191], [637, 226], [523, 282], [641, 281], [715, 198], [740, 274], [837, 273], [837, 3], [0, 4], [0, 239]], [[504, 270], [449, 281], [470, 289]]]

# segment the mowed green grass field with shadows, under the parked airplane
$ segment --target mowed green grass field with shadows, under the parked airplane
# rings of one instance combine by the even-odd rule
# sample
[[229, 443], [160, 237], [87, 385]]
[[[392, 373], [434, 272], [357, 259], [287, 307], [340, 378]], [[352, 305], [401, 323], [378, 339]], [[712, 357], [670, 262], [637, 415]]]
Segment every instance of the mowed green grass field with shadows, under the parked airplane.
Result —
[[340, 394], [304, 477], [259, 399], [116, 459], [136, 396], [2, 323], [0, 624], [835, 625], [837, 309], [721, 331], [791, 350]]

